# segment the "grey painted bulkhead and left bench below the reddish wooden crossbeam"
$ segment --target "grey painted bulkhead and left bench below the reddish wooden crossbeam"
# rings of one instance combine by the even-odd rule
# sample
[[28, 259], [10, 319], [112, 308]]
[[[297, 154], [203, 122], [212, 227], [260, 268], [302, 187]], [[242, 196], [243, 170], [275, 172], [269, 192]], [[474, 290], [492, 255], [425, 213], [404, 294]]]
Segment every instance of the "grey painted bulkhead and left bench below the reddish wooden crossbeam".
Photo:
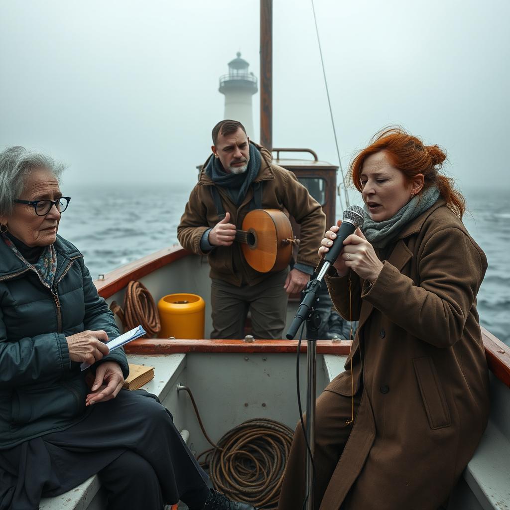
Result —
[[[252, 344], [244, 345], [248, 347]], [[306, 356], [301, 354], [300, 357], [304, 406]], [[226, 431], [250, 418], [272, 418], [291, 428], [297, 423], [295, 350], [283, 353], [246, 350], [230, 353], [130, 354], [128, 359], [130, 363], [154, 367], [154, 379], [143, 389], [158, 395], [195, 454], [208, 449], [210, 445], [203, 438], [188, 395], [177, 391], [180, 383], [193, 391], [203, 424], [213, 441], [218, 441]], [[318, 357], [317, 394], [343, 370], [345, 359], [345, 356], [336, 354]], [[277, 392], [274, 391], [276, 386]], [[61, 496], [43, 498], [40, 504], [40, 510], [105, 508], [105, 495], [100, 490], [97, 475]]]

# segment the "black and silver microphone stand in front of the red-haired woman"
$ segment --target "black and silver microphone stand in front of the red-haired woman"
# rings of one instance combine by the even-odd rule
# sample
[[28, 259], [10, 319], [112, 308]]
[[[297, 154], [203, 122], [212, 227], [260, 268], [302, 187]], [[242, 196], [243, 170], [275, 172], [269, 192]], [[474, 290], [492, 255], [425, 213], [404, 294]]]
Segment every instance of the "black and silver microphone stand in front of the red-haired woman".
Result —
[[324, 262], [317, 278], [307, 284], [304, 297], [299, 304], [296, 316], [287, 332], [287, 338], [293, 340], [303, 321], [307, 321], [307, 426], [306, 437], [310, 447], [307, 450], [305, 459], [305, 483], [308, 488], [308, 499], [306, 510], [314, 510], [314, 471], [313, 458], [315, 453], [315, 392], [316, 392], [316, 356], [317, 339], [321, 318], [315, 311], [314, 305], [317, 302], [317, 293], [321, 288], [322, 279], [326, 274], [329, 262]]

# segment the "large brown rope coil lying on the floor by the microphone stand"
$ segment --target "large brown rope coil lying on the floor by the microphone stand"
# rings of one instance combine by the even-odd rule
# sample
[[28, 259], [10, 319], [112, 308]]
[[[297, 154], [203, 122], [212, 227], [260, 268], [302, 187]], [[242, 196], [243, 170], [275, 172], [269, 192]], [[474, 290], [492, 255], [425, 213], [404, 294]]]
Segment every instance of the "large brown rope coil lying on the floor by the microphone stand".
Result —
[[208, 450], [214, 488], [235, 501], [276, 508], [293, 436], [287, 425], [267, 418], [229, 430]]

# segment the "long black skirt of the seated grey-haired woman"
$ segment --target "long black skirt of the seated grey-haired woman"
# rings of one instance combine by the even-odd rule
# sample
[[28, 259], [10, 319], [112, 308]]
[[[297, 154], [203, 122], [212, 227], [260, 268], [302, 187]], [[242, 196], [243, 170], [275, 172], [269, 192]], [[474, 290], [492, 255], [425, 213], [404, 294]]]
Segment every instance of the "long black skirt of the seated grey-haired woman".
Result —
[[41, 497], [67, 492], [126, 451], [154, 469], [165, 504], [188, 499], [190, 507], [203, 505], [208, 476], [171, 414], [144, 390], [121, 390], [115, 399], [94, 404], [85, 419], [67, 430], [0, 451], [0, 510], [37, 510]]

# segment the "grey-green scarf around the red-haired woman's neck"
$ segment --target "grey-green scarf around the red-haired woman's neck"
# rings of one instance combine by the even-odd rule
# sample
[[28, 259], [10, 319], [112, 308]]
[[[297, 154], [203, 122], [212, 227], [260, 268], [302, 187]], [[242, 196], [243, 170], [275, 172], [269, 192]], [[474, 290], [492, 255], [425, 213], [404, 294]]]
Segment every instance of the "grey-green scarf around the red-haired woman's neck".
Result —
[[407, 223], [432, 207], [439, 195], [439, 189], [436, 186], [430, 186], [420, 195], [411, 198], [393, 217], [383, 221], [372, 220], [368, 214], [367, 206], [364, 206], [363, 234], [375, 248], [385, 248], [390, 241], [398, 236]]

